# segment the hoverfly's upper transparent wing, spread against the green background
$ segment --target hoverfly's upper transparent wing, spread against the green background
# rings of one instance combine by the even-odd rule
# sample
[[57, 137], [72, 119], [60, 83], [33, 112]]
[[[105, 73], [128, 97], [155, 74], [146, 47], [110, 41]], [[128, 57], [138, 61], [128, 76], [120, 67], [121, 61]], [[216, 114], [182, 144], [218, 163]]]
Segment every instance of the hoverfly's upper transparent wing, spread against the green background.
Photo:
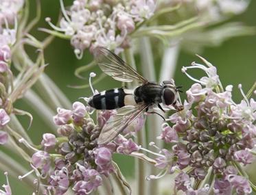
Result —
[[148, 82], [147, 79], [139, 75], [136, 70], [121, 60], [115, 53], [104, 47], [95, 48], [93, 55], [102, 71], [117, 81], [132, 82], [137, 80], [139, 83]]

